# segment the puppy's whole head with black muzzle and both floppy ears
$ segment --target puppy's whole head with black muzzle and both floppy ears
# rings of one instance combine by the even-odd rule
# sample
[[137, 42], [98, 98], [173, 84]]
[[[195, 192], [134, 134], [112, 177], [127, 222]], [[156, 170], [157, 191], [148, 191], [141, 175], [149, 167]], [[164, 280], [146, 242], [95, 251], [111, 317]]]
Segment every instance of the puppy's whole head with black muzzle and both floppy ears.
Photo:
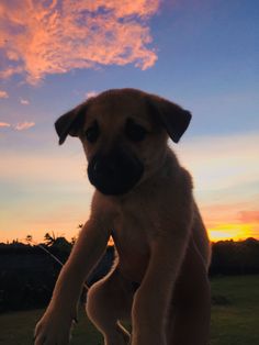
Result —
[[117, 196], [161, 167], [167, 133], [178, 142], [189, 122], [190, 113], [169, 101], [122, 89], [89, 99], [59, 118], [56, 130], [60, 144], [68, 134], [81, 140], [90, 182], [103, 194]]

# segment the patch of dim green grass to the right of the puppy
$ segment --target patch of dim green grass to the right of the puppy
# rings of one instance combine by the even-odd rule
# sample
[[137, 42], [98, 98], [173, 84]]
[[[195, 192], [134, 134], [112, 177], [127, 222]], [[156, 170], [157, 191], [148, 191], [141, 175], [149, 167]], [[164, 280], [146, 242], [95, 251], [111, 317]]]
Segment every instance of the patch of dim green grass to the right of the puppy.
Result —
[[259, 344], [259, 276], [214, 278], [212, 294], [229, 303], [213, 305], [211, 344]]

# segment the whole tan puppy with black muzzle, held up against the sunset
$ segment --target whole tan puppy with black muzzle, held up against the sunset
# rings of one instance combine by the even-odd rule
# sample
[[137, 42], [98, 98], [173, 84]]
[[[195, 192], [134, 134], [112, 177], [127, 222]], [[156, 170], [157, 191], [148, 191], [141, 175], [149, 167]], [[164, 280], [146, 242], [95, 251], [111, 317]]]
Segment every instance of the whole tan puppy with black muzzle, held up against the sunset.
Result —
[[[167, 144], [190, 120], [179, 105], [134, 89], [105, 91], [57, 120], [59, 144], [81, 140], [97, 190], [36, 325], [36, 345], [68, 344], [82, 285], [111, 235], [119, 260], [87, 301], [105, 345], [206, 344], [210, 244], [191, 177]], [[126, 318], [131, 336], [120, 323]]]

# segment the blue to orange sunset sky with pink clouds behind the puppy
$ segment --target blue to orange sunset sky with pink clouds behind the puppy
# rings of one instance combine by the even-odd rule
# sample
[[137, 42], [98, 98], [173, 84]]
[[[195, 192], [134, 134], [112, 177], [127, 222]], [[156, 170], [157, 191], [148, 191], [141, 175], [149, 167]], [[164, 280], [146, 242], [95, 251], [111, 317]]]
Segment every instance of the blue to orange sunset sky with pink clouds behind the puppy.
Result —
[[212, 241], [259, 238], [257, 0], [2, 0], [0, 242], [70, 240], [93, 188], [55, 120], [112, 88], [192, 112], [179, 144]]

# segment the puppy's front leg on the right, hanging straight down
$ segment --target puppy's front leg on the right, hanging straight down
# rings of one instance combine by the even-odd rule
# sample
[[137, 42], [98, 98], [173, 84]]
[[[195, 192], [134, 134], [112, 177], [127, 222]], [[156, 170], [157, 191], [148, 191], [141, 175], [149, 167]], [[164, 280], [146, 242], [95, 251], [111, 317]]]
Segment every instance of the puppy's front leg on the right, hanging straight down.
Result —
[[132, 345], [167, 345], [167, 314], [187, 249], [189, 226], [167, 230], [151, 246], [148, 269], [134, 299]]

